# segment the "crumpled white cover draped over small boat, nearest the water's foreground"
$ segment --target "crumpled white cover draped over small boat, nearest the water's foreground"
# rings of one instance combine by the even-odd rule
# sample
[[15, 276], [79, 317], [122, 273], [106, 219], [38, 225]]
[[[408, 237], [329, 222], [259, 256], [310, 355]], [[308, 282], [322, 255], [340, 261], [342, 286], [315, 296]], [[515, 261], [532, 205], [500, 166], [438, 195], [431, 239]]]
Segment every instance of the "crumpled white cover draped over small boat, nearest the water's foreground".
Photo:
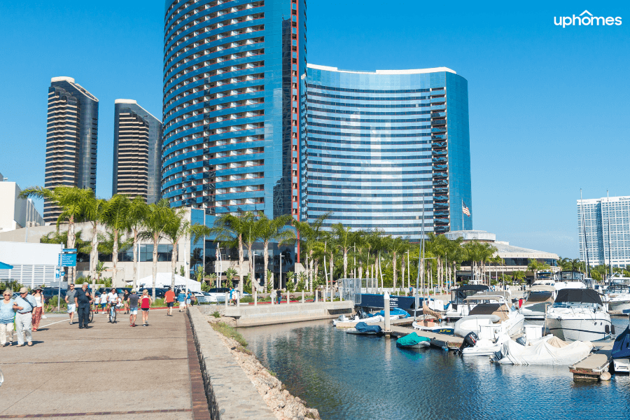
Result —
[[521, 346], [512, 339], [503, 343], [499, 363], [514, 365], [573, 365], [591, 352], [591, 342], [563, 342], [557, 337], [547, 336]]

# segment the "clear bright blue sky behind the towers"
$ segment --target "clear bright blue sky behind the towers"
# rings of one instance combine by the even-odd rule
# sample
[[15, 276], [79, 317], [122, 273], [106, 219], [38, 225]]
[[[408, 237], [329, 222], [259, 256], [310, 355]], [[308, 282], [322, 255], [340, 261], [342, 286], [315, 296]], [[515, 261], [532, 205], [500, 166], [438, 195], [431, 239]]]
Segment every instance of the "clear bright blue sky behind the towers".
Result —
[[[100, 99], [97, 195], [111, 195], [114, 99], [137, 99], [161, 115], [163, 3], [0, 3], [4, 176], [43, 185], [48, 85], [52, 76], [71, 76]], [[468, 79], [475, 229], [575, 258], [580, 188], [585, 198], [607, 189], [630, 195], [629, 2], [308, 0], [307, 7], [311, 63], [447, 66]], [[554, 25], [554, 17], [584, 10], [623, 24]]]

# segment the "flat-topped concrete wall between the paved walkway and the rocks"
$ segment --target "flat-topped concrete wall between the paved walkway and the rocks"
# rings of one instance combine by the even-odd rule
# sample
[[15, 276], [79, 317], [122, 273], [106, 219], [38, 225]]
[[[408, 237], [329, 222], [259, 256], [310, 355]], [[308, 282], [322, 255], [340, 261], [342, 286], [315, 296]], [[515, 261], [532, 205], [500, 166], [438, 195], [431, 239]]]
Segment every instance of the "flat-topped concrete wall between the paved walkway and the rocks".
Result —
[[276, 416], [197, 307], [188, 309], [211, 419], [276, 420]]

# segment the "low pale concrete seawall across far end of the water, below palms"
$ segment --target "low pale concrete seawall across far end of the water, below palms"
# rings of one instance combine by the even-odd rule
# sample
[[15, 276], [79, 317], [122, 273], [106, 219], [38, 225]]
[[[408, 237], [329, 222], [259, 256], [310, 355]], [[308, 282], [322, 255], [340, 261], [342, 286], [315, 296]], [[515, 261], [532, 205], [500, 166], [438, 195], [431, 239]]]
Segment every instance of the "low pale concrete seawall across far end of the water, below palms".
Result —
[[[316, 319], [337, 318], [340, 314], [349, 314], [354, 308], [353, 302], [308, 302], [290, 304], [241, 305], [223, 307], [223, 316], [236, 319], [237, 327], [272, 325]], [[210, 309], [207, 309], [210, 310]]]

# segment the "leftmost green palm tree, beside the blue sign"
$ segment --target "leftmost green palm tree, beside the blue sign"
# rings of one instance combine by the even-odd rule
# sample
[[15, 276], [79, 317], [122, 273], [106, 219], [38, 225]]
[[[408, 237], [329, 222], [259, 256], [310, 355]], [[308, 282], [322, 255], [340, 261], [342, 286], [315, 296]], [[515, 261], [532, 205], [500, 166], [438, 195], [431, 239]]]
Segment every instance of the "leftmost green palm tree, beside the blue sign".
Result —
[[[68, 221], [68, 242], [66, 248], [75, 248], [76, 235], [74, 223], [81, 221], [85, 214], [87, 202], [94, 199], [94, 191], [89, 188], [76, 188], [58, 186], [55, 188], [29, 187], [22, 190], [20, 198], [43, 198], [45, 201], [54, 204], [62, 209], [62, 213], [57, 218], [57, 231], [59, 223]], [[72, 282], [76, 281], [76, 267], [69, 267]]]

